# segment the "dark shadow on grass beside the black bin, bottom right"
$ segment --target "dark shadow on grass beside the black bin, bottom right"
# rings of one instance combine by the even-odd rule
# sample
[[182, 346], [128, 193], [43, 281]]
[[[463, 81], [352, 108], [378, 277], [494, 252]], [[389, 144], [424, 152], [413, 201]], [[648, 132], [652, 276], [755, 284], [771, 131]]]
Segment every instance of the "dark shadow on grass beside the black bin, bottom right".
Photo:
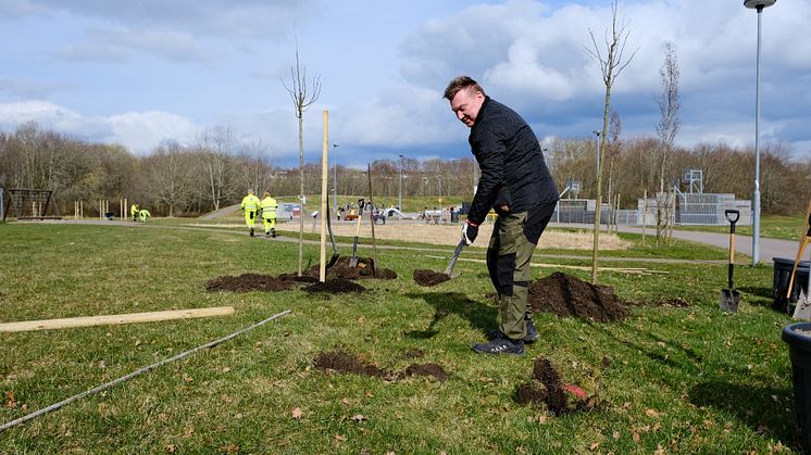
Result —
[[689, 400], [696, 406], [731, 413], [756, 433], [800, 451], [790, 389], [708, 381], [696, 384], [689, 391]]

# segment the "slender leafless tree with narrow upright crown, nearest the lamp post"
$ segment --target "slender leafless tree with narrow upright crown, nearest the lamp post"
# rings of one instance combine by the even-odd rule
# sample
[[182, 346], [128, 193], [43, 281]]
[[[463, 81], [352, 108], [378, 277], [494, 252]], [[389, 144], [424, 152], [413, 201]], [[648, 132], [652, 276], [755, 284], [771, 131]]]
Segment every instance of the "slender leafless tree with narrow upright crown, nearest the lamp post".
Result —
[[[664, 180], [667, 172], [667, 159], [673, 148], [673, 141], [678, 134], [678, 62], [673, 45], [664, 45], [664, 63], [659, 74], [662, 77], [662, 98], [659, 101], [661, 121], [657, 124], [657, 137], [659, 138], [660, 163], [659, 163], [659, 194], [657, 195], [657, 245], [661, 243], [662, 237], [672, 222], [672, 212], [667, 201], [672, 198], [665, 194]], [[670, 191], [670, 189], [669, 189]]]

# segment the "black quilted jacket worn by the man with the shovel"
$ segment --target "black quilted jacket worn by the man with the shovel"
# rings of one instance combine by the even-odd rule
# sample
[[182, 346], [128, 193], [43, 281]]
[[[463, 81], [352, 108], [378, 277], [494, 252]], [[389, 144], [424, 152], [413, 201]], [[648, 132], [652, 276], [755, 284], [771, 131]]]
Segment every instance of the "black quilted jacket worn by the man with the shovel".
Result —
[[516, 213], [558, 201], [538, 138], [515, 111], [486, 97], [467, 141], [482, 168], [471, 222], [484, 222], [490, 207], [508, 205]]

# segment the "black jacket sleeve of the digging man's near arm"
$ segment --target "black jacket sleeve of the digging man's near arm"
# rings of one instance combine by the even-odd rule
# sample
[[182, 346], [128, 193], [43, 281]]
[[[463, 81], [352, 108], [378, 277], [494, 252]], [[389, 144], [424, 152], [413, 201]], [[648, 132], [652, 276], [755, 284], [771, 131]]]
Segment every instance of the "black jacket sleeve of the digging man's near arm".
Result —
[[471, 147], [482, 168], [482, 177], [467, 219], [478, 225], [487, 217], [503, 185], [506, 148], [503, 141], [494, 132], [476, 137], [472, 140]]

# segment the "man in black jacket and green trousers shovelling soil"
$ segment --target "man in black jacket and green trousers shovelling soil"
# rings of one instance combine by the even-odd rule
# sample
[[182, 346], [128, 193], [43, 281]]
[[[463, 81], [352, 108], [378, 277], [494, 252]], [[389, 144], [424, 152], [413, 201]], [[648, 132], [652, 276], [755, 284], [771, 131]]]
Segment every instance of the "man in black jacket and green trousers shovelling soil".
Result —
[[498, 292], [501, 325], [488, 342], [473, 345], [481, 354], [524, 354], [524, 343], [538, 339], [527, 305], [532, 260], [538, 239], [552, 217], [558, 189], [544, 161], [538, 138], [510, 108], [490, 99], [472, 78], [451, 80], [445, 98], [463, 124], [482, 169], [462, 237], [469, 245], [492, 207], [498, 219], [487, 247], [487, 271]]

